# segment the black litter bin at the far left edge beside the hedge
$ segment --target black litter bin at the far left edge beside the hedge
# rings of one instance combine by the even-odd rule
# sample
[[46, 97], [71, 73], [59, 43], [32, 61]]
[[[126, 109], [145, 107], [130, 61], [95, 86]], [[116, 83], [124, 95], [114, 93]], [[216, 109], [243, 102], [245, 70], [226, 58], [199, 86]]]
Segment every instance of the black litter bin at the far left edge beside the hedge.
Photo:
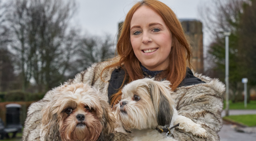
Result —
[[7, 104], [6, 106], [6, 128], [17, 128], [21, 132], [22, 125], [20, 123], [21, 105]]

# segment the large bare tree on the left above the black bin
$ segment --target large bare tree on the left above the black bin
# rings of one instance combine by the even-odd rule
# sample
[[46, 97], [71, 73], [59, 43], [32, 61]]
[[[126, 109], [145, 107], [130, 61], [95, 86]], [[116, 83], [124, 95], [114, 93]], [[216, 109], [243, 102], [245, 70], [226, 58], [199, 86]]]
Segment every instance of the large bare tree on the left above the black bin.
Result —
[[8, 20], [11, 44], [21, 70], [23, 90], [34, 79], [39, 91], [63, 81], [76, 47], [76, 32], [69, 26], [76, 5], [72, 0], [13, 0]]

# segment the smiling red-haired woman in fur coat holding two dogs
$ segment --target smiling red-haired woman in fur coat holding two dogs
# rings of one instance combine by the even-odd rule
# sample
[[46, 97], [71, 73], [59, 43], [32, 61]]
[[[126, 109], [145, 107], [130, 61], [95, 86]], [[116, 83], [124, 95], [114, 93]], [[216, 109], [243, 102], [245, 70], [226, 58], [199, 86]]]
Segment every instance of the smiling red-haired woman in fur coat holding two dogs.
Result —
[[[157, 0], [137, 2], [128, 12], [117, 43], [119, 56], [107, 62], [93, 64], [66, 84], [88, 83], [109, 96], [114, 105], [121, 99], [121, 88], [126, 83], [155, 77], [171, 81], [178, 113], [192, 119], [207, 130], [207, 140], [218, 141], [221, 118], [223, 83], [200, 74], [193, 75], [190, 66], [191, 51], [183, 29], [173, 11]], [[49, 91], [46, 95], [51, 95]], [[28, 111], [24, 140], [35, 136], [40, 124], [42, 99]], [[197, 136], [175, 129], [178, 141], [199, 141]]]

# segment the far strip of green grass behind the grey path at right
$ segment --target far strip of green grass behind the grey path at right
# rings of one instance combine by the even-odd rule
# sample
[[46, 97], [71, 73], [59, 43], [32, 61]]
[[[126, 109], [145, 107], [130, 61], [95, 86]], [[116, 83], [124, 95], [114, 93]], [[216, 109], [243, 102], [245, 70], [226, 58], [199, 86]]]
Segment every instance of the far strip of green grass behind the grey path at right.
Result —
[[[226, 108], [226, 101], [224, 100], [223, 109]], [[247, 103], [247, 108], [244, 108], [244, 102], [236, 102], [232, 103], [231, 100], [229, 101], [229, 109], [256, 109], [256, 101], [250, 101]]]

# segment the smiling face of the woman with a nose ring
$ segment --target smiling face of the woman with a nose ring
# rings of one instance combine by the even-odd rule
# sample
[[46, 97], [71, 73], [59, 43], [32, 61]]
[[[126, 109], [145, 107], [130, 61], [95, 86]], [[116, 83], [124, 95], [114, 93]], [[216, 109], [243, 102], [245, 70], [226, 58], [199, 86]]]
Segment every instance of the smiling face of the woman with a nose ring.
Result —
[[171, 32], [154, 10], [141, 6], [133, 14], [130, 41], [144, 67], [150, 71], [167, 69], [172, 45]]

